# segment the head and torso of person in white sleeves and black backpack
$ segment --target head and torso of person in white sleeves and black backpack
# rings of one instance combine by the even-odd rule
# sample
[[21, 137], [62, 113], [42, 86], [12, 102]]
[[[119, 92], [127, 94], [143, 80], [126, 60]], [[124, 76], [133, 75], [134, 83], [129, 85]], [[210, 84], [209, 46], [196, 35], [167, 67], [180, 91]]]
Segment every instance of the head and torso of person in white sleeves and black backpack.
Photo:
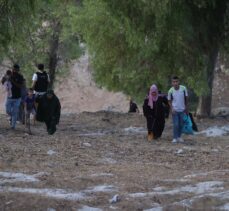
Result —
[[44, 64], [38, 64], [37, 68], [38, 68], [38, 71], [33, 74], [32, 88], [35, 91], [36, 96], [42, 96], [48, 90], [50, 79], [49, 79], [49, 75], [44, 70]]

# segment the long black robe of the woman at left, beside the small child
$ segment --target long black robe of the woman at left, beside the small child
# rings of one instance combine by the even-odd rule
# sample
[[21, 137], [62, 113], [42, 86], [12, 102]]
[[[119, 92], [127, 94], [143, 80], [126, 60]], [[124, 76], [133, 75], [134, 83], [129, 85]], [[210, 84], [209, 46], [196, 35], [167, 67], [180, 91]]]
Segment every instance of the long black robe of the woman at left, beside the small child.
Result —
[[60, 120], [61, 105], [56, 95], [49, 99], [47, 94], [40, 98], [36, 98], [38, 102], [36, 119], [40, 122], [45, 122], [47, 131], [50, 135], [56, 131], [56, 125]]

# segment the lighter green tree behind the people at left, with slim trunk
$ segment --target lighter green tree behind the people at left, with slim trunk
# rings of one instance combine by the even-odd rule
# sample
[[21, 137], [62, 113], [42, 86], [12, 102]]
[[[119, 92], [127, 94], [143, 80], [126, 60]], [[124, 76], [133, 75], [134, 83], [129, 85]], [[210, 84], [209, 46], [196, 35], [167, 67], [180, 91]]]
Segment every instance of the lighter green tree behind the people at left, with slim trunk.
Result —
[[45, 63], [52, 88], [57, 69], [66, 71], [68, 62], [82, 53], [78, 34], [71, 31], [68, 23], [70, 13], [76, 7], [74, 1], [37, 2], [31, 20], [23, 25], [23, 34], [8, 43], [5, 55], [12, 63], [22, 65], [28, 81], [36, 70], [36, 64]]

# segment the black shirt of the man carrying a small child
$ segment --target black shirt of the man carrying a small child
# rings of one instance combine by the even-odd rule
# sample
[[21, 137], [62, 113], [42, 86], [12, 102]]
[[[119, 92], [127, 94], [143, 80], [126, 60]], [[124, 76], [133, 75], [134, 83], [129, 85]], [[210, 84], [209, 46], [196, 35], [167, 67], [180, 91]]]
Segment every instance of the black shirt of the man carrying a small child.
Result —
[[13, 73], [11, 76], [11, 83], [12, 83], [12, 99], [21, 98], [21, 88], [24, 83], [24, 78], [19, 73]]

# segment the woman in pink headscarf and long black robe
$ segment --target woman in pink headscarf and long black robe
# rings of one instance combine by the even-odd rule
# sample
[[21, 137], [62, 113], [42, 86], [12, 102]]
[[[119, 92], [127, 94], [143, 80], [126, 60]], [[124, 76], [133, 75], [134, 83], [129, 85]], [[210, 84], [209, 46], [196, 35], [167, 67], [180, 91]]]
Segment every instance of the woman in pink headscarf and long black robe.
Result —
[[157, 86], [153, 84], [143, 104], [143, 113], [147, 120], [148, 141], [160, 138], [162, 135], [165, 127], [164, 105], [168, 105], [167, 98], [160, 95]]

